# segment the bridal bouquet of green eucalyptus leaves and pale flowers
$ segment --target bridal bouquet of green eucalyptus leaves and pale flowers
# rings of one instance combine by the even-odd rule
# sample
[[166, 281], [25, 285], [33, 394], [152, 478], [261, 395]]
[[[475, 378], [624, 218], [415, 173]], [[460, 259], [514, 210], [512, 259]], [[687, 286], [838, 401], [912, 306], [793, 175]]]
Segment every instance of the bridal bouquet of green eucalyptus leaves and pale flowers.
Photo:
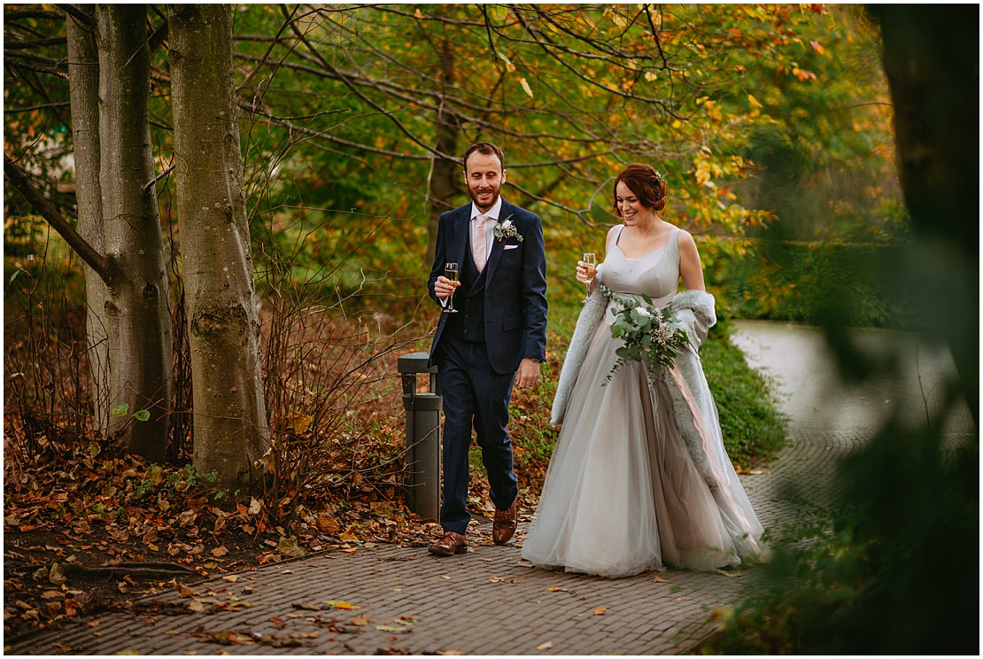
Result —
[[639, 303], [613, 293], [604, 284], [601, 288], [620, 307], [614, 313], [611, 336], [624, 340], [624, 345], [616, 350], [618, 360], [607, 374], [605, 383], [610, 382], [618, 367], [628, 362], [641, 362], [652, 385], [655, 374], [665, 367], [671, 368], [675, 356], [689, 344], [686, 331], [679, 326], [670, 308], [657, 309], [648, 295], [642, 295], [644, 303]]

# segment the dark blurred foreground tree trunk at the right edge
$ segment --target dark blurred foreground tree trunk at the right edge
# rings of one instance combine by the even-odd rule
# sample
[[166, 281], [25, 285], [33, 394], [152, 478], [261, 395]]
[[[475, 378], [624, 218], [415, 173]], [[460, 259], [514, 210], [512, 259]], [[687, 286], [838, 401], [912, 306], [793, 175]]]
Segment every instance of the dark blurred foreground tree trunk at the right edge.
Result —
[[979, 422], [979, 8], [871, 5], [895, 103], [898, 170], [928, 329], [952, 347]]

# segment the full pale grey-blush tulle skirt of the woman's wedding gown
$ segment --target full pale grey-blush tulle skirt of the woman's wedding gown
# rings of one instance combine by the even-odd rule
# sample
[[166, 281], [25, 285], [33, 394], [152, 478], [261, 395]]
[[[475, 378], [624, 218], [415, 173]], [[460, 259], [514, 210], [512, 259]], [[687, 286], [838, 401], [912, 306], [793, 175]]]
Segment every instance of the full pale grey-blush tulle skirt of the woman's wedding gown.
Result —
[[725, 457], [719, 424], [716, 433], [701, 433], [720, 443], [710, 448], [718, 453], [716, 471], [708, 474], [703, 459], [701, 474], [675, 422], [670, 383], [657, 379], [650, 387], [638, 363], [620, 366], [606, 382], [618, 345], [600, 323], [570, 394], [523, 558], [610, 577], [760, 558], [761, 525]]

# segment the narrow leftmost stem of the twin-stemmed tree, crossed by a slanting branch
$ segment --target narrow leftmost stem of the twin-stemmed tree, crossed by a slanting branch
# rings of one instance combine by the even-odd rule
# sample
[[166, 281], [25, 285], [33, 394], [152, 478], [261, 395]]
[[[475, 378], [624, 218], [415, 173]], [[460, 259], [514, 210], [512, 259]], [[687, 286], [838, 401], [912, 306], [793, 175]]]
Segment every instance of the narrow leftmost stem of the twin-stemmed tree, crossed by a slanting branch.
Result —
[[[80, 11], [95, 16], [94, 6]], [[71, 82], [72, 134], [75, 148], [76, 200], [79, 234], [99, 254], [105, 254], [102, 237], [102, 190], [99, 185], [99, 52], [95, 30], [71, 15], [67, 17], [68, 77]], [[92, 419], [95, 430], [109, 431], [109, 334], [105, 306], [109, 290], [87, 265], [86, 336], [87, 361], [92, 378]]]

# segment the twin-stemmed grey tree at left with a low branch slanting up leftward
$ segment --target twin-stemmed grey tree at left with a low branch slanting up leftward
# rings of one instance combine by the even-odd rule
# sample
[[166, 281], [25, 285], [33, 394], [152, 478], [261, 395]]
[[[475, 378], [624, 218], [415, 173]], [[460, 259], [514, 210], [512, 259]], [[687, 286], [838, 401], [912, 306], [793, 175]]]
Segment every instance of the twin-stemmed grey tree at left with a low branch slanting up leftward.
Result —
[[[94, 15], [76, 11], [68, 20], [69, 58], [80, 74], [72, 94], [80, 115], [80, 228], [98, 246], [88, 244], [6, 155], [4, 170], [90, 269], [89, 335], [97, 346], [93, 354], [105, 360], [90, 363], [96, 427], [121, 436], [134, 453], [162, 460], [173, 355], [150, 154], [146, 7], [100, 5]], [[135, 419], [144, 422], [139, 430]]]

